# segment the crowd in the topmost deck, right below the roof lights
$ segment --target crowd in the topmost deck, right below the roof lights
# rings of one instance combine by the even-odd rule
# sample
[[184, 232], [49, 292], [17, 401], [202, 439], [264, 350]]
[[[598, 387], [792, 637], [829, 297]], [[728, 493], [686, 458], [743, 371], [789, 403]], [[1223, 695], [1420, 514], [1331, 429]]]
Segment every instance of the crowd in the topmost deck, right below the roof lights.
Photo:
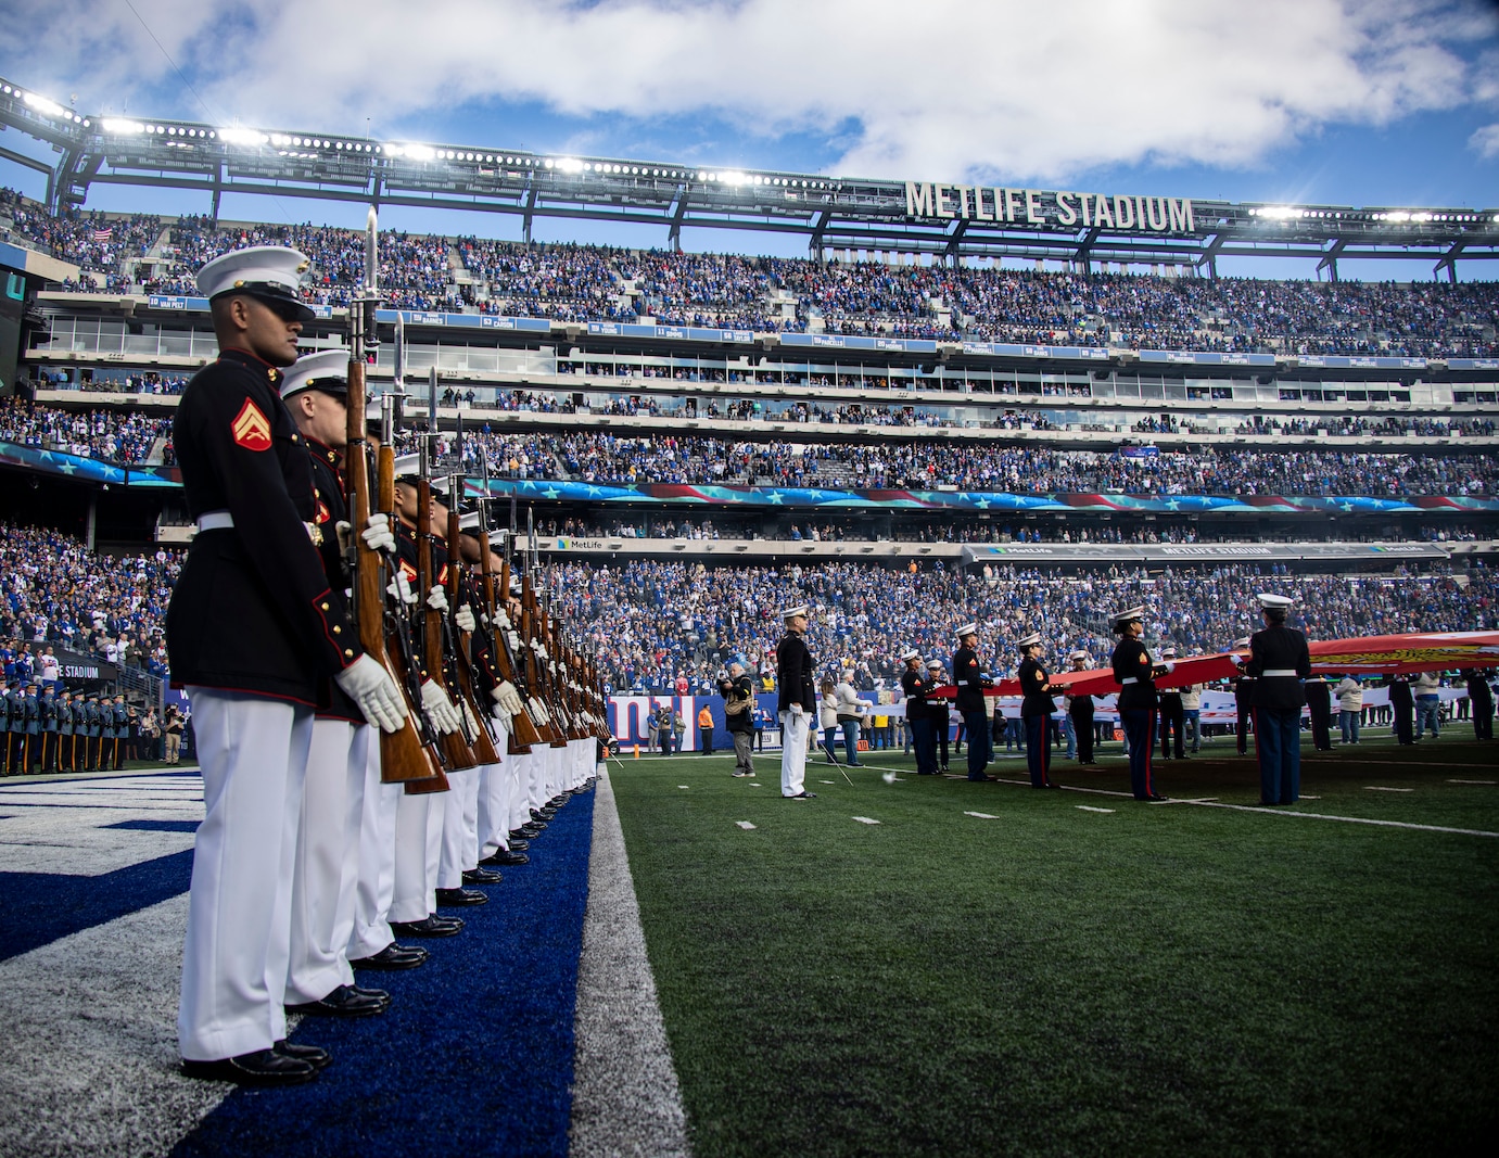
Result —
[[[154, 244], [160, 222], [69, 210], [52, 217], [6, 192], [12, 232], [126, 285], [121, 262]], [[109, 235], [105, 237], [105, 232]], [[208, 258], [292, 244], [313, 262], [309, 297], [345, 304], [363, 270], [349, 229], [220, 226], [181, 219], [148, 292], [192, 294]], [[483, 309], [586, 321], [805, 330], [1040, 345], [1274, 354], [1495, 357], [1493, 282], [1372, 283], [1031, 273], [988, 267], [829, 262], [666, 250], [381, 235], [390, 306]], [[633, 292], [630, 292], [633, 291]], [[794, 309], [785, 316], [784, 306]]]

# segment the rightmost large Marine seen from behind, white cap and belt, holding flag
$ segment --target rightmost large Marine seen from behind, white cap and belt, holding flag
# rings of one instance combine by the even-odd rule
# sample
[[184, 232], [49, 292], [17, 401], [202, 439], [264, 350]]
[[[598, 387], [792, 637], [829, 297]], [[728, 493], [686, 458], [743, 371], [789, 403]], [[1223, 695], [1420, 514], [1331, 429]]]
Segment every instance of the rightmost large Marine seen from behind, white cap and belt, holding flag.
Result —
[[1255, 677], [1255, 754], [1259, 757], [1259, 803], [1294, 804], [1301, 798], [1301, 680], [1312, 674], [1307, 637], [1286, 626], [1295, 602], [1261, 593], [1262, 631], [1249, 637], [1244, 671]]

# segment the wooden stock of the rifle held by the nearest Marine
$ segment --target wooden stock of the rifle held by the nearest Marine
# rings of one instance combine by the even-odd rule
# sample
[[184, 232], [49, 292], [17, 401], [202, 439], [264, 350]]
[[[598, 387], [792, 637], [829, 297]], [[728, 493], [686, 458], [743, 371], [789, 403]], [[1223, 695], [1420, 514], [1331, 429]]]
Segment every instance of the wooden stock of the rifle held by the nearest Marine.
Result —
[[[385, 568], [379, 551], [364, 545], [361, 532], [370, 521], [370, 475], [364, 448], [364, 364], [349, 360], [348, 395], [348, 446], [343, 464], [349, 479], [349, 521], [354, 539], [354, 589], [355, 616], [358, 619], [360, 647], [375, 662], [384, 665], [397, 686], [400, 676], [391, 668], [385, 650]], [[408, 704], [408, 707], [411, 707]], [[408, 713], [399, 731], [379, 734], [379, 777], [382, 783], [405, 783], [423, 780], [433, 774], [435, 767], [421, 743], [417, 725]]]

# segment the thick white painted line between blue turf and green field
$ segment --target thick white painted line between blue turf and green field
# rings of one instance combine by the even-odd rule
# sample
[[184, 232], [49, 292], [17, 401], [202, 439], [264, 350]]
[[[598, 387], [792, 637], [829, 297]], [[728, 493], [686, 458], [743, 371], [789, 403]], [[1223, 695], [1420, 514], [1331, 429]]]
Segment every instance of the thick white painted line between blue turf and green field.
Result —
[[594, 845], [573, 1017], [574, 1158], [690, 1158], [682, 1091], [657, 1004], [615, 789], [594, 788]]

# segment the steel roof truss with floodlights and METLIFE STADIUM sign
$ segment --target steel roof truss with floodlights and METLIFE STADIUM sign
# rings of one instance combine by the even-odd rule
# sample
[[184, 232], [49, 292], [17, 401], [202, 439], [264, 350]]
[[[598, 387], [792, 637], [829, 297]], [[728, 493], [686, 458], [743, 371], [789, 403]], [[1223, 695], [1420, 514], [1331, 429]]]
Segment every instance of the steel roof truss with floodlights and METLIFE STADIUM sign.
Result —
[[1408, 258], [1457, 280], [1457, 262], [1499, 256], [1499, 210], [1265, 205], [1169, 196], [717, 169], [472, 145], [79, 115], [0, 78], [0, 124], [49, 144], [55, 211], [94, 184], [198, 189], [217, 219], [223, 193], [508, 213], [531, 238], [537, 217], [682, 229], [799, 234], [829, 250], [1178, 265], [1214, 274], [1219, 258], [1339, 262]]

